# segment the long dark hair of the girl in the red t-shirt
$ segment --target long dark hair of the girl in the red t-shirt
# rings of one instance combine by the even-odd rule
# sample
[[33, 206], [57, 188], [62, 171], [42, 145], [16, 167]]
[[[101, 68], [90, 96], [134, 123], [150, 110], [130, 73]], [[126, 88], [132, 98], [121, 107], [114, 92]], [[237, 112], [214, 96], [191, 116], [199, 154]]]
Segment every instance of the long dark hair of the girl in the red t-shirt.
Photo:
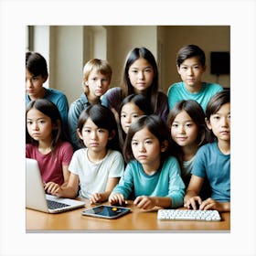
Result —
[[[26, 121], [27, 121], [27, 112], [29, 112], [32, 109], [36, 109], [37, 111], [47, 115], [50, 118], [51, 123], [54, 123], [57, 125], [57, 129], [53, 129], [51, 133], [52, 141], [50, 146], [51, 146], [51, 150], [54, 151], [56, 145], [59, 144], [59, 142], [67, 140], [64, 133], [62, 133], [62, 123], [61, 123], [58, 107], [53, 102], [48, 101], [46, 99], [37, 99], [35, 101], [30, 101], [27, 104], [27, 108], [26, 108]], [[34, 140], [27, 132], [27, 122], [26, 122], [26, 143], [38, 145], [38, 142]]]

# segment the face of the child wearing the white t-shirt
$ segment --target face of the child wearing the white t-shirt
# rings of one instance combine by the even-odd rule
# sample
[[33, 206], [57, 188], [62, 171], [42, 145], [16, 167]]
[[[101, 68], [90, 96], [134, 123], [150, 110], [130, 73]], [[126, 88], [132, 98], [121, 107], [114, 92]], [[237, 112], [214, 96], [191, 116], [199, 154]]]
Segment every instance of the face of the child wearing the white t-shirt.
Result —
[[96, 126], [91, 118], [84, 123], [81, 133], [79, 131], [78, 133], [85, 146], [93, 152], [105, 151], [106, 145], [111, 139], [109, 131]]

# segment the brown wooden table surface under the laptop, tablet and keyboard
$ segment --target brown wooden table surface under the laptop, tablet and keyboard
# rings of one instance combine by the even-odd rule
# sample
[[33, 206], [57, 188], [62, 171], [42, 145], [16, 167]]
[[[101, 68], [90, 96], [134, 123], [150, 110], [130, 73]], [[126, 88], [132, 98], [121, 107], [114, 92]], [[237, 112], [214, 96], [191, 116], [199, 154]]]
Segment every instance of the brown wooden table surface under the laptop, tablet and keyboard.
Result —
[[[81, 211], [95, 207], [85, 200], [85, 208], [73, 209], [61, 213], [44, 213], [33, 209], [26, 209], [27, 232], [35, 231], [177, 231], [177, 230], [204, 230], [230, 231], [230, 213], [220, 213], [220, 221], [188, 221], [188, 220], [158, 220], [157, 209], [143, 210], [133, 206], [128, 201], [126, 207], [132, 212], [119, 219], [100, 219], [82, 216]], [[104, 203], [108, 205], [108, 203]]]

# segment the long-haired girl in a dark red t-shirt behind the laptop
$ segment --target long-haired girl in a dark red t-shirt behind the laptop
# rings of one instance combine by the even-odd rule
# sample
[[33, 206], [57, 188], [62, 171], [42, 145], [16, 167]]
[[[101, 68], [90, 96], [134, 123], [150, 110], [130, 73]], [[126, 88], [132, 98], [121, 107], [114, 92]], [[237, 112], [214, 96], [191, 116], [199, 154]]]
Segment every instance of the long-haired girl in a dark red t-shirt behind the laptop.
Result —
[[57, 106], [46, 99], [30, 101], [26, 121], [26, 157], [37, 160], [47, 192], [64, 186], [73, 148], [62, 133]]

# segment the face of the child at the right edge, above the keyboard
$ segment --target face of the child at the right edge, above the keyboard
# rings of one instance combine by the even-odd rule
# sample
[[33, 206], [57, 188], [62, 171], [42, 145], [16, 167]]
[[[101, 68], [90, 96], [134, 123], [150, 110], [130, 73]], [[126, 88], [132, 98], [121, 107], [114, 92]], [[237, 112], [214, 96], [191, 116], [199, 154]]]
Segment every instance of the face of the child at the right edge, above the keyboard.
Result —
[[218, 141], [230, 141], [230, 103], [219, 108], [219, 111], [212, 114], [207, 121], [208, 129], [218, 138]]

